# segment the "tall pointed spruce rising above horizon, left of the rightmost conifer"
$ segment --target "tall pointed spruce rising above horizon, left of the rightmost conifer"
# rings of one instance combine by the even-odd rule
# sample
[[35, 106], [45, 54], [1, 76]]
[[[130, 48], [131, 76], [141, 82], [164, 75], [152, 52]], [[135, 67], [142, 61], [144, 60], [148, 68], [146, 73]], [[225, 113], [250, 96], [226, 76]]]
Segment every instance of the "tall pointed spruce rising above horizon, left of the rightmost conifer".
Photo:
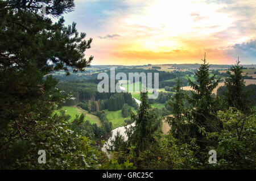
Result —
[[196, 71], [195, 77], [196, 82], [192, 82], [188, 78], [189, 85], [195, 90], [191, 91], [192, 96], [188, 98], [191, 103], [192, 113], [192, 137], [197, 137], [198, 140], [202, 139], [202, 134], [198, 132], [198, 127], [204, 127], [208, 132], [212, 132], [217, 129], [216, 127], [216, 112], [217, 109], [214, 107], [216, 104], [216, 98], [213, 97], [212, 91], [218, 86], [220, 78], [215, 80], [216, 75], [210, 77], [209, 64], [207, 63], [205, 56], [204, 63], [201, 64], [199, 70]]

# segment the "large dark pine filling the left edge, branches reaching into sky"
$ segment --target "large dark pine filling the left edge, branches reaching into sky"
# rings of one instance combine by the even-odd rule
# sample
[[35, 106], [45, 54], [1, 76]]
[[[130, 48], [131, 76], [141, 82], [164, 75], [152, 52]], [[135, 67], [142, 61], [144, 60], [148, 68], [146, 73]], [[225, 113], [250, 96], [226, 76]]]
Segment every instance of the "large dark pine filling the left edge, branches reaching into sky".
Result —
[[[47, 16], [38, 15], [42, 3], [47, 3]], [[69, 74], [69, 68], [82, 71], [93, 59], [84, 58], [92, 39], [86, 41], [86, 34], [77, 32], [76, 23], [64, 26], [61, 15], [74, 6], [73, 0], [0, 1], [1, 168], [14, 168], [17, 160], [23, 162], [25, 158], [27, 165], [34, 164], [29, 156], [38, 155], [31, 145], [38, 148], [40, 142], [45, 144], [44, 132], [55, 134], [51, 121], [60, 119], [53, 119], [52, 112], [65, 96], [48, 74], [55, 70]], [[56, 23], [51, 20], [53, 16], [59, 18]], [[51, 139], [58, 141], [57, 137]]]

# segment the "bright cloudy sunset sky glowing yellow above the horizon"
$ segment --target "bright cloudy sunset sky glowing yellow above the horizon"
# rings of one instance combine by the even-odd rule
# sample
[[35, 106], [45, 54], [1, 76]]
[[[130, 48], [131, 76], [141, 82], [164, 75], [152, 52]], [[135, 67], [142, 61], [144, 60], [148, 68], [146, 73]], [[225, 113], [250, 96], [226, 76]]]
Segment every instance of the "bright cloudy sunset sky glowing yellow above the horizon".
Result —
[[256, 1], [75, 0], [91, 65], [256, 64]]

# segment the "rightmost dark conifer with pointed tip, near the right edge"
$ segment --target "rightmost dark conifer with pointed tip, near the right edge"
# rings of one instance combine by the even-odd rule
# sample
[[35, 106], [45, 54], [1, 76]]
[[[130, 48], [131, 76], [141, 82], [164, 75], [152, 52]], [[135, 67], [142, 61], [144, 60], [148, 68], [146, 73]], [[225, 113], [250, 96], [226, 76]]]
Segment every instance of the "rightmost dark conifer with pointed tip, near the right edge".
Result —
[[242, 66], [239, 65], [239, 57], [236, 65], [232, 65], [231, 71], [227, 71], [229, 77], [225, 79], [227, 91], [224, 92], [224, 99], [228, 107], [236, 107], [240, 111], [249, 112], [253, 102], [247, 98], [251, 91], [245, 91], [245, 76], [242, 75]]

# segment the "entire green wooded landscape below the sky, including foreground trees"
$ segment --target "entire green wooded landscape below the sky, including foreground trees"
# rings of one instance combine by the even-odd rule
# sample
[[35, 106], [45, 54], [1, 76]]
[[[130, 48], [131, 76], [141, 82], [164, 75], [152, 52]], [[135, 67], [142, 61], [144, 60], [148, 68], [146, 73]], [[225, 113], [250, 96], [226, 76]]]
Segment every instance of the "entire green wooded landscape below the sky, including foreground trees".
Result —
[[[38, 3], [46, 2], [47, 16], [40, 16]], [[138, 94], [100, 93], [97, 74], [110, 71], [90, 67], [93, 56], [85, 52], [92, 39], [76, 23], [64, 25], [63, 14], [74, 6], [73, 0], [0, 0], [0, 169], [256, 169], [256, 85], [245, 85], [250, 76], [239, 60], [214, 65], [228, 68], [225, 73], [210, 70], [205, 58], [194, 70], [120, 67], [115, 73], [127, 77], [159, 73], [158, 98], [137, 92], [138, 104]], [[71, 118], [64, 106], [82, 113]], [[118, 113], [117, 123], [130, 125], [127, 139], [118, 133], [107, 155], [109, 117]], [[38, 162], [39, 150], [46, 163]], [[217, 153], [214, 164], [210, 150]]]

